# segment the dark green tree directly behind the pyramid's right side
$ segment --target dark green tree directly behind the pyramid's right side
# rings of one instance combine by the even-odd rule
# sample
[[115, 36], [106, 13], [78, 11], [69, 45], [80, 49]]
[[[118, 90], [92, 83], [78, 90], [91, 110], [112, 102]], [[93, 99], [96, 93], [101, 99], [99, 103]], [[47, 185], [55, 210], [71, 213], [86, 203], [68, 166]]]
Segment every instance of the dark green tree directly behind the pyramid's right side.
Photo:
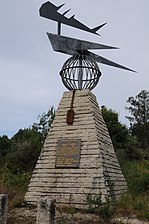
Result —
[[105, 106], [101, 107], [101, 112], [119, 161], [122, 163], [126, 159], [141, 159], [141, 152], [136, 149], [136, 139], [130, 134], [128, 128], [121, 124], [118, 113], [112, 109], [107, 109]]

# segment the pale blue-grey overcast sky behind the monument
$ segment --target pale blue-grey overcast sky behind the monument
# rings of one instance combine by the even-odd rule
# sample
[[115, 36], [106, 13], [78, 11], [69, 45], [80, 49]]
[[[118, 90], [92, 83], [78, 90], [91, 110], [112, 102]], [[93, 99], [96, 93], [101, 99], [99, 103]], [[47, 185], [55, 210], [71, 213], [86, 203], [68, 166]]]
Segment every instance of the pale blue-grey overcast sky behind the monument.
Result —
[[[1, 0], [0, 3], [0, 136], [12, 137], [19, 129], [32, 126], [38, 115], [51, 106], [57, 109], [63, 92], [59, 71], [69, 57], [52, 50], [46, 32], [56, 33], [54, 21], [39, 16], [42, 0]], [[102, 72], [92, 91], [99, 103], [119, 114], [121, 123], [129, 125], [125, 107], [130, 96], [149, 90], [149, 1], [148, 0], [51, 0], [65, 3], [67, 17], [96, 27], [93, 35], [62, 25], [62, 35], [119, 47], [96, 50], [137, 73], [98, 64]]]

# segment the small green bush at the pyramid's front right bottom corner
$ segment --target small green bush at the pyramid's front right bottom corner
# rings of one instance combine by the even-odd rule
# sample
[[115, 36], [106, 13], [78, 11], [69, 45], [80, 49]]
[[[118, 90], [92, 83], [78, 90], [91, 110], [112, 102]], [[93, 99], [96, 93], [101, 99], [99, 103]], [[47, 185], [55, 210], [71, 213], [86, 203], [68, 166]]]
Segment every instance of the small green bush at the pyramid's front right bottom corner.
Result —
[[96, 213], [102, 218], [110, 218], [113, 214], [113, 206], [108, 198], [103, 202], [101, 193], [98, 195], [87, 195], [88, 211]]

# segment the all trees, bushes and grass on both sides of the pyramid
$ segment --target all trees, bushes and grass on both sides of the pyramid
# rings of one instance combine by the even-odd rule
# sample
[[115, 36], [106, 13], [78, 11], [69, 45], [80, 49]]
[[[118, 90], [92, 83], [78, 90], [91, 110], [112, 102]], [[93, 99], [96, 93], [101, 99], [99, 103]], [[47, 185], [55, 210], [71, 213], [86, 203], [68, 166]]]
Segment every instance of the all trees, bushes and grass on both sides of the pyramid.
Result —
[[[149, 92], [142, 90], [127, 103], [130, 128], [121, 124], [117, 112], [101, 108], [129, 188], [115, 212], [149, 220]], [[30, 128], [20, 129], [11, 139], [0, 137], [0, 193], [8, 193], [10, 207], [22, 204], [54, 116], [51, 107]]]

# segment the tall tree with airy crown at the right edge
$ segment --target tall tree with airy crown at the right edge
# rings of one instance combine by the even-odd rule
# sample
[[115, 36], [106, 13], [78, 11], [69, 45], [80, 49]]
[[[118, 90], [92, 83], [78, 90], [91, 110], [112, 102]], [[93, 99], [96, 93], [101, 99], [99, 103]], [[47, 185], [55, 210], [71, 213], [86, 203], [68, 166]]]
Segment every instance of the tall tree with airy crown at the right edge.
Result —
[[126, 117], [130, 121], [130, 131], [145, 149], [149, 146], [149, 92], [142, 90], [135, 97], [129, 97], [127, 103], [130, 104], [126, 107], [131, 114]]

